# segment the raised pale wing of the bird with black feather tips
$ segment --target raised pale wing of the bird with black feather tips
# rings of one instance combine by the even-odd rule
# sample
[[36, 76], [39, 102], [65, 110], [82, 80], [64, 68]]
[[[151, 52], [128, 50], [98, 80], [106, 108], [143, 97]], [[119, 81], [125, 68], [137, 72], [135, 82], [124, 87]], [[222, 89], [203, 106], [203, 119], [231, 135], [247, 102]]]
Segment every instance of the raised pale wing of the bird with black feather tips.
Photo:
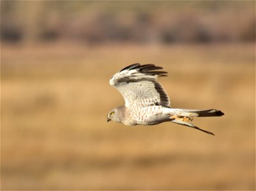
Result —
[[170, 100], [162, 85], [156, 81], [160, 76], [167, 76], [163, 69], [154, 64], [139, 63], [124, 67], [110, 78], [110, 85], [123, 95], [125, 106], [162, 105], [170, 107]]

